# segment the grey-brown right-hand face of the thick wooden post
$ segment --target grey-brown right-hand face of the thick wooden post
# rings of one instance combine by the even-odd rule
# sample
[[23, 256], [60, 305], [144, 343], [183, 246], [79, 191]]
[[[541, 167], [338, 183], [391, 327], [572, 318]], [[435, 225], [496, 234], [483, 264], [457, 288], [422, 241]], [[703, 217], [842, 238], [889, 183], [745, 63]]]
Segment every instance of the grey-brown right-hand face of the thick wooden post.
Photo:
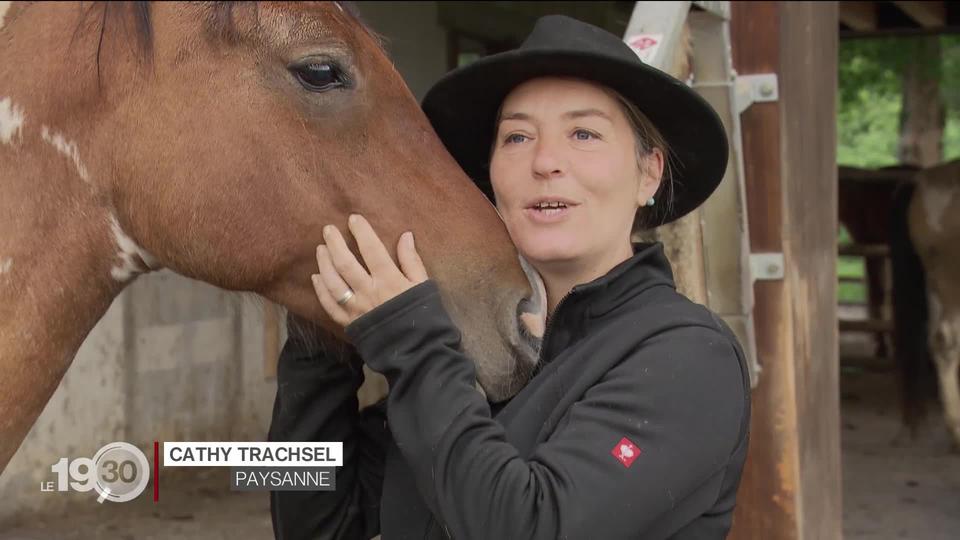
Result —
[[782, 2], [784, 255], [803, 538], [843, 535], [837, 330], [837, 2]]

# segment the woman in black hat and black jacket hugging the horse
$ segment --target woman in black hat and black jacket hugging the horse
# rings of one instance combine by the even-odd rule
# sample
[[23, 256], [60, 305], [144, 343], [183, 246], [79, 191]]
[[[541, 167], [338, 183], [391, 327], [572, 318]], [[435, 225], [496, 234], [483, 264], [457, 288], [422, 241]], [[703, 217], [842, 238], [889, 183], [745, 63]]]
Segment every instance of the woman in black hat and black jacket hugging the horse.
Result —
[[317, 296], [387, 376], [389, 431], [355, 414], [356, 355], [288, 343], [271, 438], [343, 440], [348, 458], [335, 492], [274, 493], [277, 536], [723, 538], [747, 450], [743, 354], [676, 291], [662, 245], [631, 244], [720, 181], [713, 110], [616, 36], [562, 16], [448, 74], [423, 107], [543, 278], [541, 362], [491, 406], [412, 236], [398, 266], [352, 216], [371, 274], [327, 227]]

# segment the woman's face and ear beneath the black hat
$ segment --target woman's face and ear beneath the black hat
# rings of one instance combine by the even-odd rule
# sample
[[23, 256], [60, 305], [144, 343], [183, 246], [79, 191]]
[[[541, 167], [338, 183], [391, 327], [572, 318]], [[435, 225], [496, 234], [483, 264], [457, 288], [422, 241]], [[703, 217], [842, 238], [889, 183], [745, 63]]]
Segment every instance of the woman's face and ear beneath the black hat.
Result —
[[632, 254], [634, 216], [663, 167], [659, 150], [647, 159], [656, 177], [641, 172], [630, 123], [600, 86], [533, 79], [504, 100], [490, 179], [517, 249], [542, 271]]

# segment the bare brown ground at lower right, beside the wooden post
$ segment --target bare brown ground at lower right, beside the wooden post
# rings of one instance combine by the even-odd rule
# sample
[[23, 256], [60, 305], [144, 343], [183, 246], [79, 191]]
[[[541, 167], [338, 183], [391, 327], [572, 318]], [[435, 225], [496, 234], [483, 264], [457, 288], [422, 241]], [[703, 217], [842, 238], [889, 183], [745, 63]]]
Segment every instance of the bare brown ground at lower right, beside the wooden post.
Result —
[[960, 539], [960, 454], [940, 415], [906, 435], [893, 375], [841, 375], [844, 537]]

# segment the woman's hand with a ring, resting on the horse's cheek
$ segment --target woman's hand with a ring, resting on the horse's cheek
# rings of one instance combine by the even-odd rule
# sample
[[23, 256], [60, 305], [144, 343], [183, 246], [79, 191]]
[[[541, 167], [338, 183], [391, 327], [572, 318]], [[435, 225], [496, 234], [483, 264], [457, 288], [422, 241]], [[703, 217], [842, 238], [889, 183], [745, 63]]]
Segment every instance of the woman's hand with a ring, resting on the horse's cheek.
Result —
[[370, 272], [347, 247], [333, 225], [323, 228], [325, 244], [317, 246], [320, 273], [311, 277], [320, 305], [337, 323], [347, 326], [387, 300], [427, 280], [427, 270], [417, 254], [413, 233], [405, 232], [397, 243], [400, 267], [373, 227], [359, 214], [351, 215], [347, 226], [357, 240], [360, 255]]

